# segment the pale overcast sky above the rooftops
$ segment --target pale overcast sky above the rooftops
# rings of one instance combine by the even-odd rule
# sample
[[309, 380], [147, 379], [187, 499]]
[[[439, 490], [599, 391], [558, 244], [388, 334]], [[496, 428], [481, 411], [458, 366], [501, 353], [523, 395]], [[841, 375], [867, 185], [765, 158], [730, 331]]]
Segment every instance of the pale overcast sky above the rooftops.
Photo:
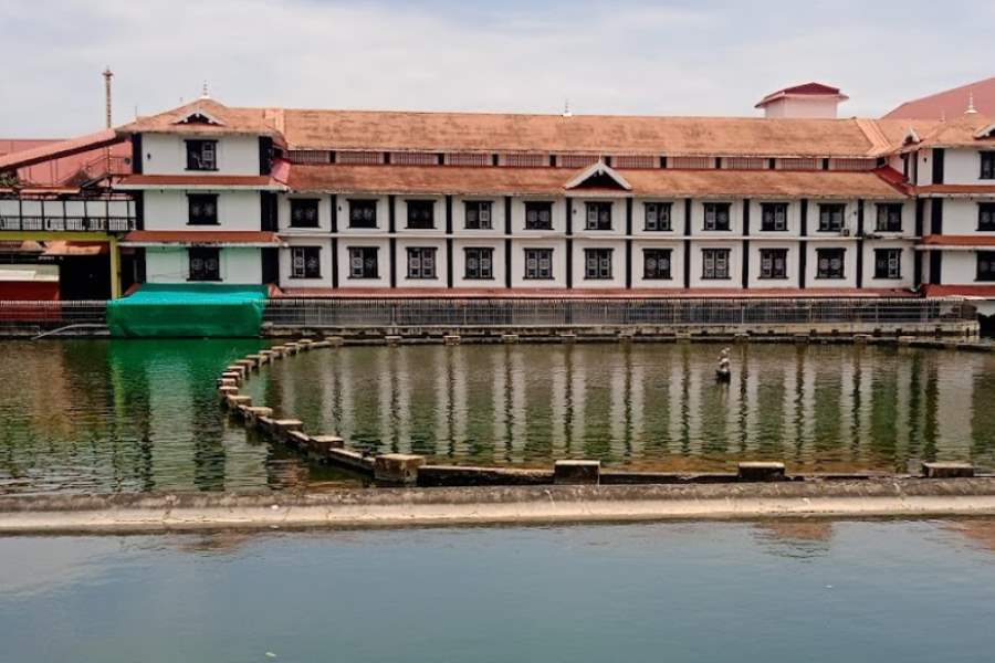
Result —
[[0, 136], [230, 105], [754, 115], [819, 81], [879, 116], [995, 75], [995, 2], [0, 0]]

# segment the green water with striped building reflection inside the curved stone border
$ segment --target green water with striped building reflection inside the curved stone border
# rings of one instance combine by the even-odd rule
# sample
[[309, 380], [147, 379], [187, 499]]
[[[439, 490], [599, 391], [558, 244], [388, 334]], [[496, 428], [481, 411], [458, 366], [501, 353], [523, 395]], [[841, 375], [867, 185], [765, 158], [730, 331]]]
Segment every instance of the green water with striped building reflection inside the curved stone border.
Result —
[[463, 463], [598, 457], [714, 470], [783, 459], [819, 471], [993, 465], [995, 360], [849, 346], [412, 346], [302, 355], [258, 393], [370, 451]]

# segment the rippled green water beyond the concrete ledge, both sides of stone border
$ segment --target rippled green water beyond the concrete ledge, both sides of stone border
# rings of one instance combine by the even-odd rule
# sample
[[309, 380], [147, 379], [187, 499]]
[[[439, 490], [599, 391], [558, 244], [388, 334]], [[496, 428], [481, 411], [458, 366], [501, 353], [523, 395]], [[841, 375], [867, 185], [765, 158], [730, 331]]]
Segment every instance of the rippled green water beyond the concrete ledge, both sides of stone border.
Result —
[[[214, 379], [259, 340], [0, 343], [0, 493], [322, 490], [310, 466], [226, 421]], [[434, 461], [722, 470], [995, 469], [995, 356], [739, 345], [318, 350], [248, 386], [255, 402], [369, 451]]]

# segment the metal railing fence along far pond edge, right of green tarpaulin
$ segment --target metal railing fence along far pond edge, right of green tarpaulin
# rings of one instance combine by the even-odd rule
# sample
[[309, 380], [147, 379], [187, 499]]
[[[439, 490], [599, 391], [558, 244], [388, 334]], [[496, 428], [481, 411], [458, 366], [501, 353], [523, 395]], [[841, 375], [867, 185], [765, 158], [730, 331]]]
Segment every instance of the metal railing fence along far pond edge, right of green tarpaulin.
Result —
[[274, 299], [279, 327], [701, 327], [973, 322], [960, 299]]

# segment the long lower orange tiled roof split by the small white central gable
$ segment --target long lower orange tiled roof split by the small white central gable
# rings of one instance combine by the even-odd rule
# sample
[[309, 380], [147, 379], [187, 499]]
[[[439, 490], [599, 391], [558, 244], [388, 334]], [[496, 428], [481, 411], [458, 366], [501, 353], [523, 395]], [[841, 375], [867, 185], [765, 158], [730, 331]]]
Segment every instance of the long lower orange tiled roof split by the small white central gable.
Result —
[[[633, 196], [808, 197], [902, 200], [874, 172], [647, 169], [618, 172]], [[563, 194], [576, 171], [558, 168], [293, 165], [296, 191], [344, 193]]]

